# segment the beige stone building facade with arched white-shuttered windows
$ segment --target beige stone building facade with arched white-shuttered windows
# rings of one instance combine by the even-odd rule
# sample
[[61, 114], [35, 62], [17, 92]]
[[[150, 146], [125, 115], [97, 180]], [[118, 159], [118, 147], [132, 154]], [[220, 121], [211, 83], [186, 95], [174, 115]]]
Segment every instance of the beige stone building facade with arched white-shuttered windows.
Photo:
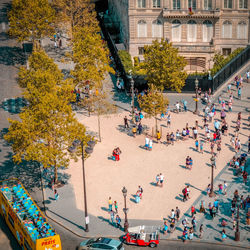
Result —
[[230, 54], [250, 43], [250, 0], [109, 0], [109, 14], [132, 57], [164, 38], [179, 48], [186, 70], [212, 67], [215, 51]]

